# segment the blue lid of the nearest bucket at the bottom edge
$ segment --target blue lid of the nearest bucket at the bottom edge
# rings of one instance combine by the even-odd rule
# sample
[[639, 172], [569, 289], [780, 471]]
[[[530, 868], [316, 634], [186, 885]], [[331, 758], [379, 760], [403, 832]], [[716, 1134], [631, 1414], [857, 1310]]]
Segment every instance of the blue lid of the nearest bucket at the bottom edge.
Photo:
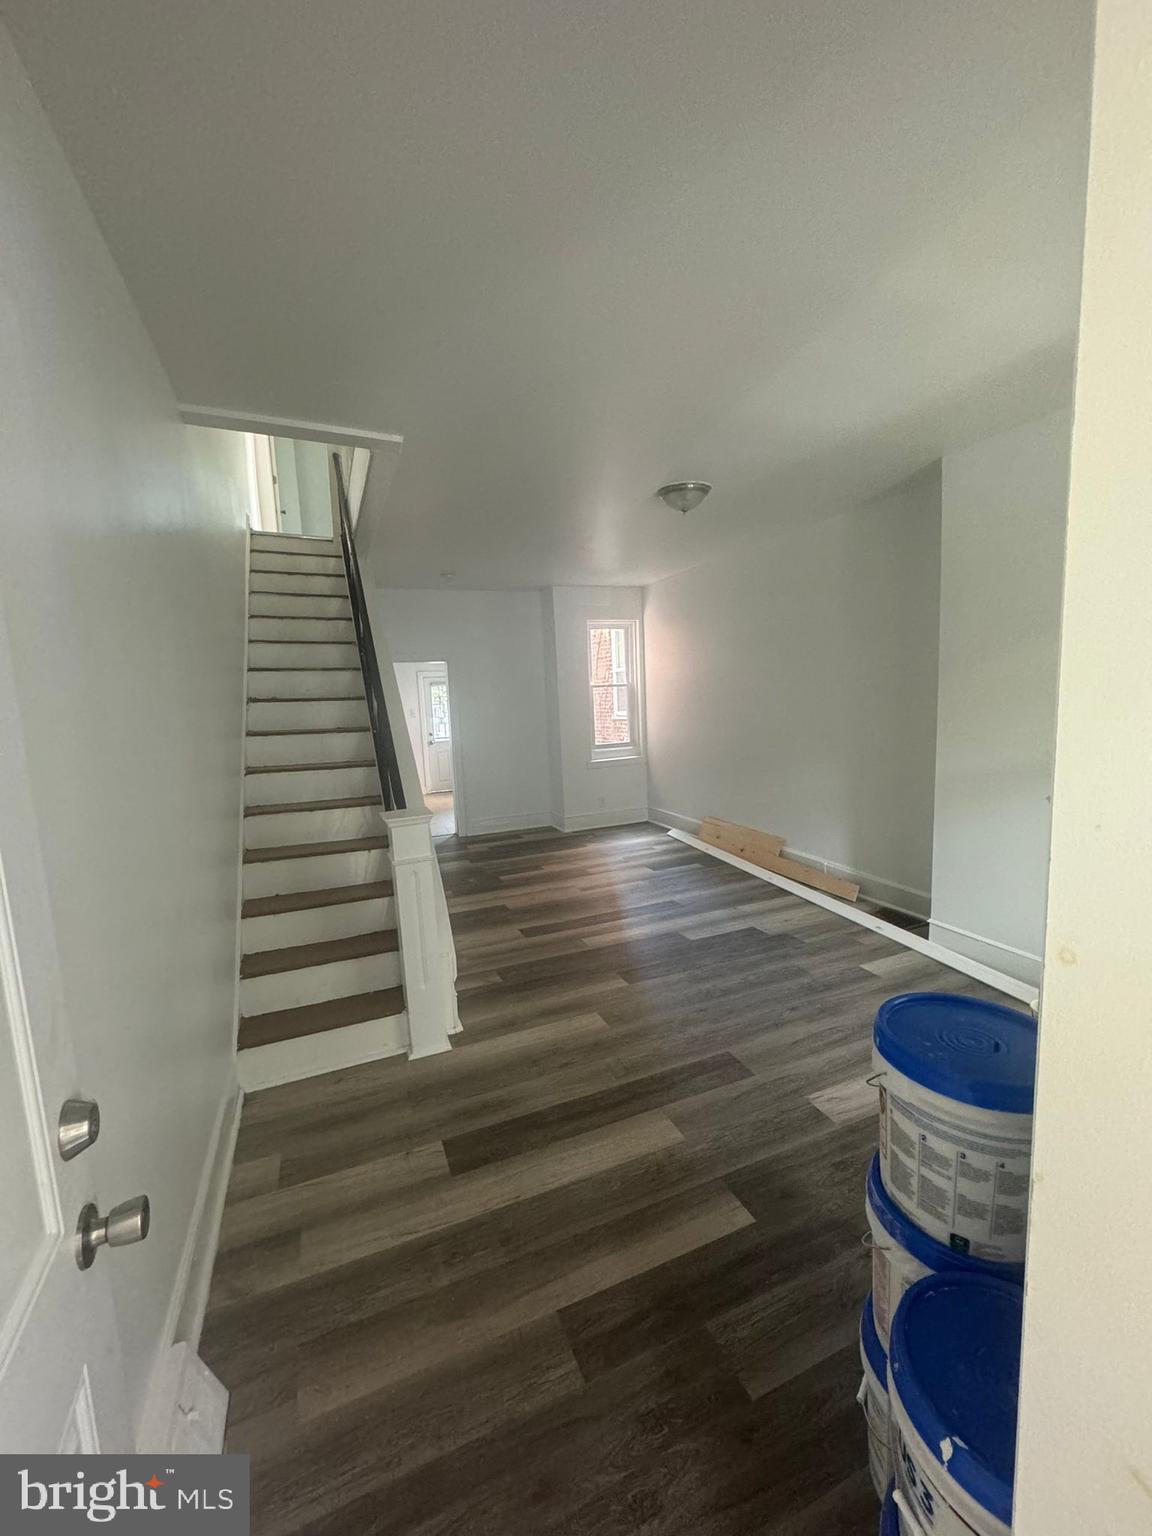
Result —
[[1012, 1524], [1023, 1292], [985, 1275], [928, 1275], [895, 1309], [892, 1390], [932, 1456]]

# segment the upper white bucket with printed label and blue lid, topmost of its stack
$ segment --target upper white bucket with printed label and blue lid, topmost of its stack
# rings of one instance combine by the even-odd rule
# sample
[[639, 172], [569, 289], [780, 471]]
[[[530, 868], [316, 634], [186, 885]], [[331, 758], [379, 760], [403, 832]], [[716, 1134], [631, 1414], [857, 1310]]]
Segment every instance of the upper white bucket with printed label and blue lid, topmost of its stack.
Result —
[[880, 1175], [891, 1200], [957, 1253], [1023, 1264], [1032, 1170], [1035, 1020], [952, 992], [880, 1006]]

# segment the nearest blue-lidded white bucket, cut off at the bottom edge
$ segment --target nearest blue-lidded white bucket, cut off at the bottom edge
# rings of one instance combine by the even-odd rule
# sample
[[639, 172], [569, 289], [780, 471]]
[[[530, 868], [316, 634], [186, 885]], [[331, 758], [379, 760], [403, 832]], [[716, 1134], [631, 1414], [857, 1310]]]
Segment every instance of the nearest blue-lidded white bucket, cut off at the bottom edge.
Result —
[[1023, 1292], [929, 1275], [892, 1319], [897, 1493], [929, 1536], [1011, 1536]]

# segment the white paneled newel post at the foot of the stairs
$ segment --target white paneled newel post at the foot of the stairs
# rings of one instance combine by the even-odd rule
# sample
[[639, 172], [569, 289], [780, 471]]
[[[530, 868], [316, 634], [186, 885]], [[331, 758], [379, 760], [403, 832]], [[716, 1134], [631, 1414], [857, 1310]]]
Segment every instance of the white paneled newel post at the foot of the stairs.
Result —
[[404, 1000], [409, 1015], [409, 1060], [452, 1049], [459, 1029], [456, 1012], [456, 948], [432, 843], [432, 814], [384, 811], [392, 846], [392, 891], [396, 903]]

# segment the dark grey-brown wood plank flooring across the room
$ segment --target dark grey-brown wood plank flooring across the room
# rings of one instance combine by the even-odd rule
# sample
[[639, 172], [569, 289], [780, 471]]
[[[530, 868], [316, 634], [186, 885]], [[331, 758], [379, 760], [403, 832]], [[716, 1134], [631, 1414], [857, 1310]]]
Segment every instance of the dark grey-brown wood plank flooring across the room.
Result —
[[252, 1095], [201, 1352], [257, 1536], [865, 1536], [892, 992], [997, 994], [639, 826], [439, 845], [464, 1034]]

